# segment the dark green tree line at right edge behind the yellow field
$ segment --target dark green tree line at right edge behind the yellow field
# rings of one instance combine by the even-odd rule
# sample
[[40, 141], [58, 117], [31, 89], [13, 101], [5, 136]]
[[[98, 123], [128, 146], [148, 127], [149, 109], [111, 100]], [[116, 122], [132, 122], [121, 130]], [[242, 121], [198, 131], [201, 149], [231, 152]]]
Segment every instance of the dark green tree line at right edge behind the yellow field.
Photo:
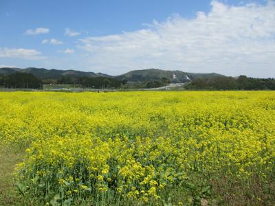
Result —
[[186, 89], [207, 89], [207, 90], [275, 90], [274, 78], [248, 78], [246, 76], [197, 78]]

